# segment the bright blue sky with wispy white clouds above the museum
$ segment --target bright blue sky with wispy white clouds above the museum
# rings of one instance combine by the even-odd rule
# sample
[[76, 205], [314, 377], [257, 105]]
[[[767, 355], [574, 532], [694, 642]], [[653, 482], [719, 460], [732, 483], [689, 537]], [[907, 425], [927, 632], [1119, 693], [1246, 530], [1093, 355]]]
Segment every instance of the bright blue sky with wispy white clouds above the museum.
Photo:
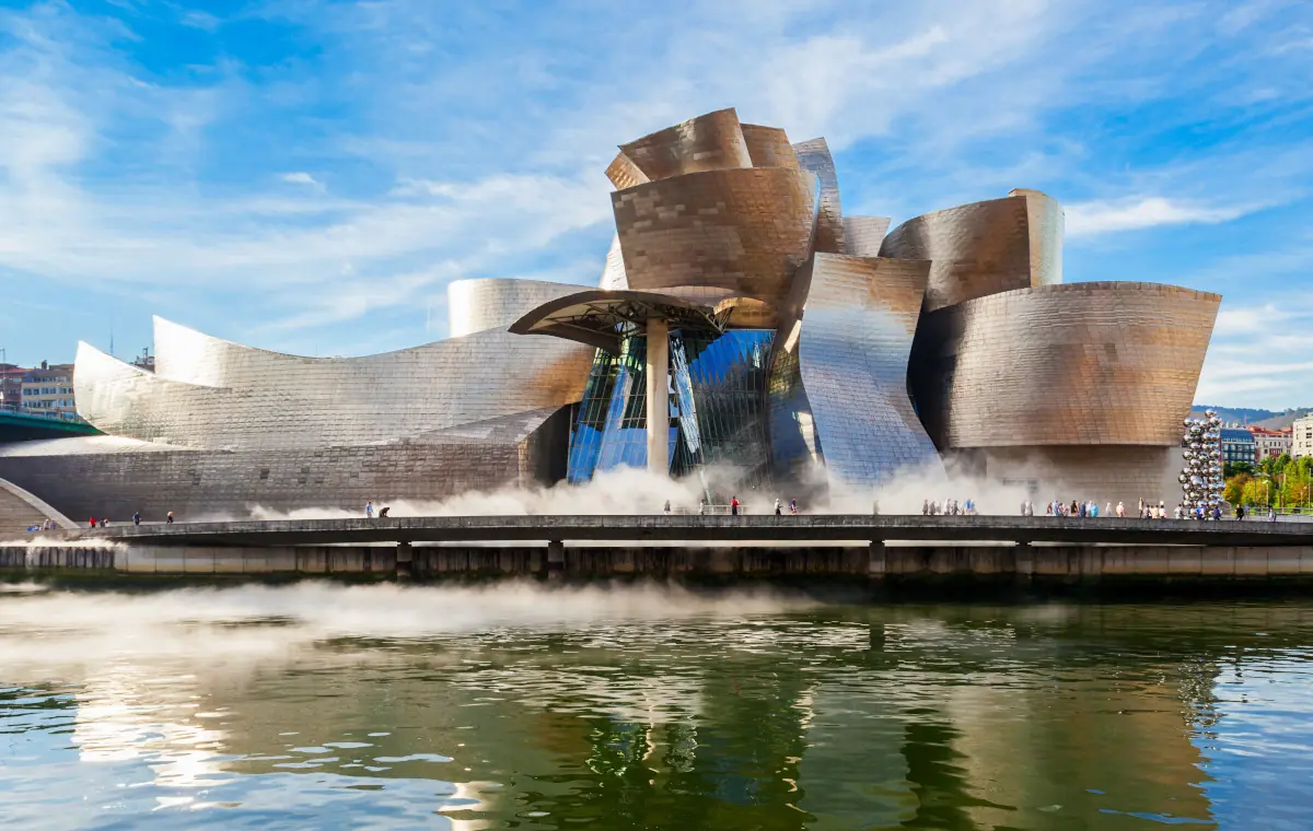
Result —
[[850, 213], [1045, 190], [1069, 282], [1225, 297], [1199, 400], [1313, 404], [1306, 0], [0, 1], [0, 348], [436, 340], [452, 280], [593, 285], [616, 144], [722, 106]]

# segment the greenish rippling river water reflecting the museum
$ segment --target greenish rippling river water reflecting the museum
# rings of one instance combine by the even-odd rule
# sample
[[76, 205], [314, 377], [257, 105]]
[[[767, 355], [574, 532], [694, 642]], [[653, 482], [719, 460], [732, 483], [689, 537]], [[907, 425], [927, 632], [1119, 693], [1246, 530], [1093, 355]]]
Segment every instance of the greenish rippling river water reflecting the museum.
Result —
[[1299, 828], [1313, 604], [0, 591], [21, 828]]

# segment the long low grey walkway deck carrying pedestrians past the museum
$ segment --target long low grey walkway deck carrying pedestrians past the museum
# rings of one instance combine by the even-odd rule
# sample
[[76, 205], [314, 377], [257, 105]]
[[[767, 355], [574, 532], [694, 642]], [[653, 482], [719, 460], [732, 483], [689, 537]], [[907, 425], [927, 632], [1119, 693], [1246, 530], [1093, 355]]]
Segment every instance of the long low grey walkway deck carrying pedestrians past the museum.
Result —
[[64, 541], [116, 541], [150, 546], [282, 547], [416, 542], [628, 542], [689, 547], [696, 543], [1056, 543], [1056, 545], [1186, 545], [1308, 546], [1313, 522], [1263, 520], [1140, 520], [1022, 516], [428, 516], [336, 520], [272, 520], [110, 525], [51, 532]]

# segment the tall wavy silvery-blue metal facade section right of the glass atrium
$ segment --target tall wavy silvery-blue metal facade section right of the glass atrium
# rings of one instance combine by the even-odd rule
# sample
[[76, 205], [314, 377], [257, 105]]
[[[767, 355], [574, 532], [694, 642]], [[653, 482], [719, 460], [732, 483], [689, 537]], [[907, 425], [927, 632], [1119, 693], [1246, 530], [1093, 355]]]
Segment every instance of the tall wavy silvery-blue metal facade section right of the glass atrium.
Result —
[[941, 470], [907, 398], [907, 358], [930, 264], [817, 253], [805, 293], [798, 373], [832, 486], [876, 486], [902, 467]]

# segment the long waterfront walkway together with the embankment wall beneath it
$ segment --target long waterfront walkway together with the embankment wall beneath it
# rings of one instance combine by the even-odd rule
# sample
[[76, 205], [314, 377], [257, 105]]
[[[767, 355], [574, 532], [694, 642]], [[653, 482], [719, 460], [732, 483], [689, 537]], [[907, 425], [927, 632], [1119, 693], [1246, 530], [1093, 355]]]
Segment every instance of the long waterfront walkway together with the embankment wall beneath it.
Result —
[[1313, 524], [1011, 516], [462, 516], [110, 525], [0, 567], [159, 575], [1308, 580]]

